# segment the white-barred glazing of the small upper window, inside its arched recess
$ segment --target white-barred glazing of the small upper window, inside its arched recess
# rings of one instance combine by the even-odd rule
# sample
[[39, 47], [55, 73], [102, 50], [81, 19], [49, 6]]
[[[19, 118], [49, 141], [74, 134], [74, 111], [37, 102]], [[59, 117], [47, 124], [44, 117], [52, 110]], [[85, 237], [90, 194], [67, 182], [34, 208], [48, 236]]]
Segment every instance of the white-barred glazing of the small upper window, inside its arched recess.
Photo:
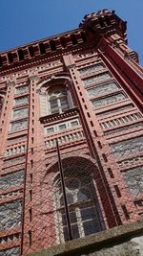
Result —
[[55, 86], [48, 91], [49, 112], [62, 113], [69, 108], [66, 86]]

